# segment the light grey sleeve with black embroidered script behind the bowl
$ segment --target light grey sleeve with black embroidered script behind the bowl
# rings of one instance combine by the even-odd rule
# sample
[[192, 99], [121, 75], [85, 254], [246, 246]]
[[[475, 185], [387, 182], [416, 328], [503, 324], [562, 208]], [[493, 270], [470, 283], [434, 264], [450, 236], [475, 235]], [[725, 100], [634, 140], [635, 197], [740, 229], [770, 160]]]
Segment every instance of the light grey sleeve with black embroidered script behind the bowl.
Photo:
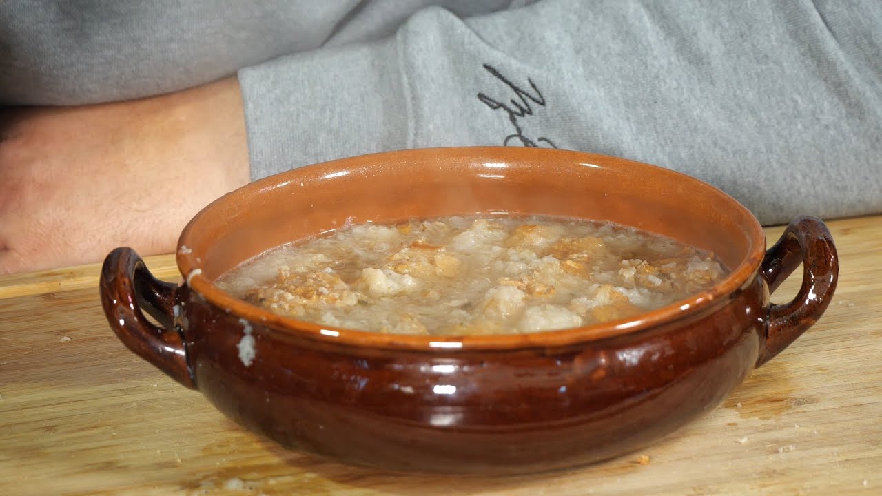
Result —
[[880, 53], [878, 0], [546, 0], [425, 9], [239, 77], [254, 178], [408, 147], [560, 147], [699, 177], [767, 224], [882, 212]]

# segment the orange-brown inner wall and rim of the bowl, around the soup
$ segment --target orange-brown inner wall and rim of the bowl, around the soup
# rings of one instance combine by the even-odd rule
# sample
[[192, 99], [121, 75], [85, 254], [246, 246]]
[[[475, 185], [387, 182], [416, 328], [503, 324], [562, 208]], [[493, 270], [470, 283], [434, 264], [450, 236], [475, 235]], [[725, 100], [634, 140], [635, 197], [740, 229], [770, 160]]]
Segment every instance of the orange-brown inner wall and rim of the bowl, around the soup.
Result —
[[[692, 177], [603, 155], [481, 147], [363, 155], [266, 177], [196, 215], [181, 235], [177, 261], [182, 274], [191, 276], [191, 288], [213, 304], [318, 336], [324, 327], [246, 304], [213, 281], [275, 246], [339, 229], [347, 222], [467, 214], [563, 215], [618, 222], [714, 252], [732, 271], [714, 288], [682, 302], [630, 321], [542, 333], [547, 341], [631, 332], [699, 312], [747, 281], [765, 251], [765, 237], [753, 215], [735, 199]], [[194, 269], [199, 270], [191, 274]], [[339, 331], [342, 339], [362, 340], [365, 334], [374, 334]], [[404, 347], [432, 342], [430, 336], [374, 334], [370, 339], [374, 344]], [[514, 346], [524, 339], [497, 335], [469, 336], [465, 341], [473, 346]]]

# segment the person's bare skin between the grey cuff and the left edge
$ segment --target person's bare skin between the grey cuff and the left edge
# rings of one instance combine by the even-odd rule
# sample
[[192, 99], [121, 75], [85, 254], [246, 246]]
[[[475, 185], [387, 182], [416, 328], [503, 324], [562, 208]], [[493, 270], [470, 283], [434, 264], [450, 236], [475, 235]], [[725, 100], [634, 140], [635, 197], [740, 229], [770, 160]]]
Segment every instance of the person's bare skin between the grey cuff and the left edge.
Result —
[[193, 214], [249, 180], [238, 80], [0, 114], [0, 274], [171, 252]]

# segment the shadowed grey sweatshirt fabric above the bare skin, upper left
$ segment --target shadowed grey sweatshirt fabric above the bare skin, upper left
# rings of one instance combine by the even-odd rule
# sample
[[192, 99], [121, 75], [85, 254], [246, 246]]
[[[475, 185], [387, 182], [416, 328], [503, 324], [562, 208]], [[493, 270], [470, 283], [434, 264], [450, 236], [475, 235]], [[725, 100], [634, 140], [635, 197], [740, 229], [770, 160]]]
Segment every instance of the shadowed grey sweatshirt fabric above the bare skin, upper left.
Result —
[[321, 46], [357, 4], [0, 0], [0, 104], [90, 104], [202, 85]]

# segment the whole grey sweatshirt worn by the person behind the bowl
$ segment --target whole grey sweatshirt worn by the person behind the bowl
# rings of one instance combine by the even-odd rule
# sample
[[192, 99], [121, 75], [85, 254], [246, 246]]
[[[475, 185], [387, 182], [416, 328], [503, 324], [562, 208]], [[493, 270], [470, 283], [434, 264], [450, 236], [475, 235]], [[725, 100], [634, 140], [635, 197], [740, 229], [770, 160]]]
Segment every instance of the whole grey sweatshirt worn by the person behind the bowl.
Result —
[[699, 177], [764, 223], [882, 212], [882, 0], [6, 0], [0, 26], [6, 104], [237, 71], [253, 178], [559, 147]]

